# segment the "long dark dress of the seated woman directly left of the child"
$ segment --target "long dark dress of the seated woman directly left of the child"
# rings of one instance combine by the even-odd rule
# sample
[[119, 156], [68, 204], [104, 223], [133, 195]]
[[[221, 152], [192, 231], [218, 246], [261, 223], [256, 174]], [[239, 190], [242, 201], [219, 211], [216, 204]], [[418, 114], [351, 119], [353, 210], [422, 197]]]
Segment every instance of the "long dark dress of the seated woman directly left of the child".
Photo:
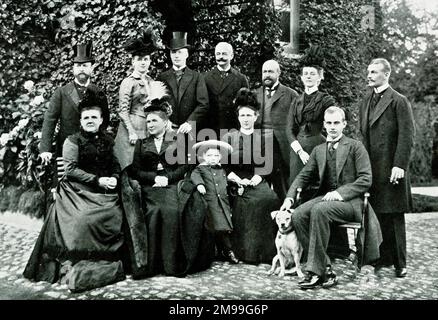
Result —
[[[190, 168], [176, 161], [177, 152], [177, 136], [173, 132], [166, 133], [160, 151], [150, 136], [137, 142], [128, 169], [130, 177], [141, 185], [142, 214], [147, 229], [147, 243], [143, 245], [147, 262], [135, 270], [133, 276], [138, 278], [160, 273], [184, 276], [208, 265], [198, 259], [206, 244], [202, 243], [206, 236], [206, 210], [198, 196], [190, 197], [196, 189], [190, 181], [183, 180]], [[184, 160], [184, 156], [180, 155], [179, 160]], [[167, 177], [168, 186], [153, 187], [156, 176]]]

